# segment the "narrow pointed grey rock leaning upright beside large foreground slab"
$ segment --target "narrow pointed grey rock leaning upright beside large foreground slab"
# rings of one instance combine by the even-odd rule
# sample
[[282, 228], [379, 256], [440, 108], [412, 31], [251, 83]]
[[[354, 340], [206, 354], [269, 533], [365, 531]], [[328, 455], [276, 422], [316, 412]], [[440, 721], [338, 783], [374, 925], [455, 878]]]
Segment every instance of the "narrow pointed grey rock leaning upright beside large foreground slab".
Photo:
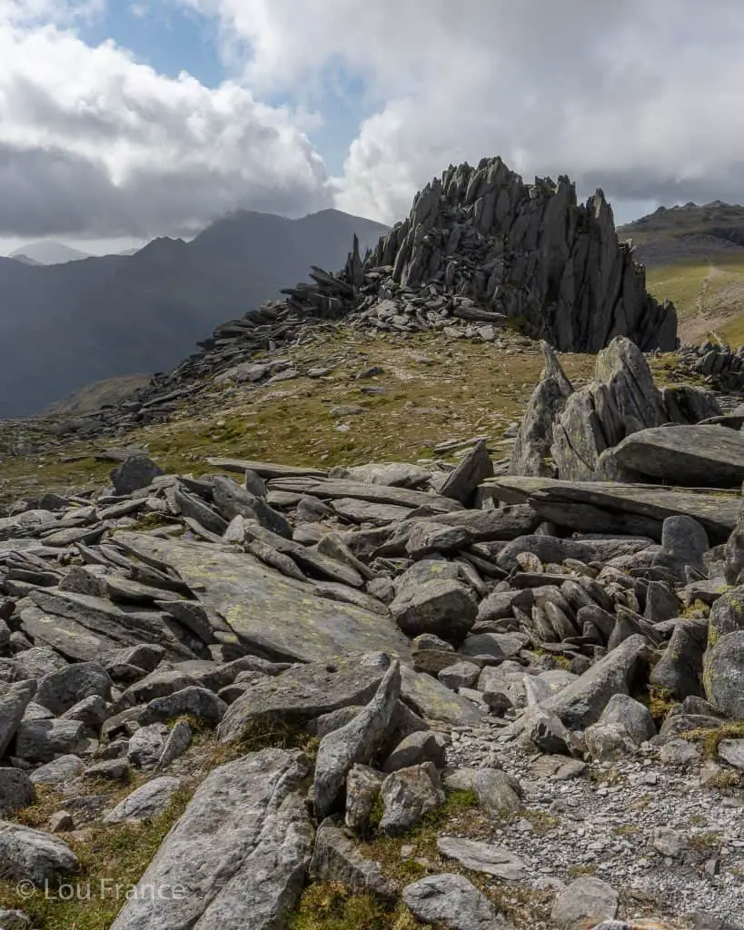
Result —
[[339, 804], [352, 765], [371, 762], [379, 751], [392, 721], [400, 687], [400, 668], [394, 662], [364, 710], [350, 723], [321, 739], [313, 789], [315, 814], [319, 820]]

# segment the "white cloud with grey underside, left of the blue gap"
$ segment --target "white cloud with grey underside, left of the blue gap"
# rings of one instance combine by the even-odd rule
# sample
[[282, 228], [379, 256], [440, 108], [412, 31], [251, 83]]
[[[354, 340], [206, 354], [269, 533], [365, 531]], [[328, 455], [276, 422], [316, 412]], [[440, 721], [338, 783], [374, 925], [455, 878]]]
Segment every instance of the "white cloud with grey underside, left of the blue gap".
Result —
[[0, 0], [0, 234], [146, 236], [238, 206], [298, 215], [329, 205], [305, 134], [312, 114], [233, 82], [166, 77], [64, 28], [97, 10]]

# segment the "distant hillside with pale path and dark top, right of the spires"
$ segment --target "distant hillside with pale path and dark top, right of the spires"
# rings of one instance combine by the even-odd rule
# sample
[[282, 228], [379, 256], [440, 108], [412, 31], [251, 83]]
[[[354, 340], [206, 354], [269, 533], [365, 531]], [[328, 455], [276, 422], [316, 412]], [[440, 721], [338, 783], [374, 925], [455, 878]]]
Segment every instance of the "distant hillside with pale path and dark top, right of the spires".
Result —
[[683, 340], [744, 340], [744, 206], [660, 206], [618, 238], [632, 240], [654, 297], [674, 301]]

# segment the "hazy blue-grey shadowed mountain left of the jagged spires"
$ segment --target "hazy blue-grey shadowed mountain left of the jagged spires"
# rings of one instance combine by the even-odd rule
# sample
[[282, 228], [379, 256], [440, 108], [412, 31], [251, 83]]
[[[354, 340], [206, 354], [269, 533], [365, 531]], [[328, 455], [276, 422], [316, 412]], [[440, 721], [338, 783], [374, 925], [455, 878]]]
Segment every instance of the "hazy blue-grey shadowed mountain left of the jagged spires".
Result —
[[192, 242], [155, 239], [131, 256], [42, 265], [26, 247], [27, 260], [0, 259], [0, 418], [29, 416], [93, 381], [165, 370], [214, 326], [307, 280], [312, 264], [338, 271], [354, 233], [364, 254], [386, 231], [339, 210], [302, 219], [243, 210]]

